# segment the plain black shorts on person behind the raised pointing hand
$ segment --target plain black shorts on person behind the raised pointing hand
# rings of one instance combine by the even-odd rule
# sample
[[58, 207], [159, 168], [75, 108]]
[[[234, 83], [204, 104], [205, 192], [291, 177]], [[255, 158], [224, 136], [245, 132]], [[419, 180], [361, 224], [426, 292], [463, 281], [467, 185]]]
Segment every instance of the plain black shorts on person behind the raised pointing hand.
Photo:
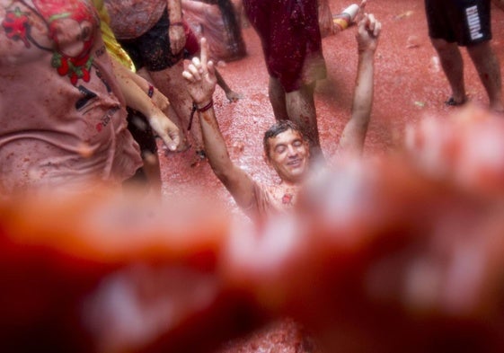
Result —
[[169, 30], [170, 19], [164, 10], [163, 16], [149, 31], [134, 40], [119, 40], [119, 44], [137, 70], [146, 66], [148, 71], [161, 71], [178, 63], [183, 56], [183, 50], [177, 55], [172, 54]]

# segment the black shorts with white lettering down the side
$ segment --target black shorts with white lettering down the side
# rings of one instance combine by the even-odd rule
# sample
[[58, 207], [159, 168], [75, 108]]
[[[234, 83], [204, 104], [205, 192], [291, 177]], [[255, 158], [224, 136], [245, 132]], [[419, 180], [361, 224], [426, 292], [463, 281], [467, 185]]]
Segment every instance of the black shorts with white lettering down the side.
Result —
[[425, 0], [429, 37], [469, 46], [491, 40], [491, 0]]

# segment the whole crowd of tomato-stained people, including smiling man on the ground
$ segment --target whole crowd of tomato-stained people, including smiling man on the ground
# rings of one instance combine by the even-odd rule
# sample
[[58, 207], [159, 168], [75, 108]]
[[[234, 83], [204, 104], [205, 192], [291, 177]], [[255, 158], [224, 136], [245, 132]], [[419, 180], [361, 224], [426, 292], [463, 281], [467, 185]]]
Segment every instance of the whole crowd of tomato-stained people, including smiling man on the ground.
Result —
[[[501, 1], [494, 1], [502, 6]], [[465, 47], [503, 114], [500, 62], [491, 49], [491, 0], [425, 0], [429, 38], [451, 93], [468, 101]], [[253, 221], [296, 207], [325, 163], [314, 89], [327, 75], [314, 0], [0, 0], [0, 196], [88, 193], [147, 185], [161, 195], [158, 142], [208, 161]], [[338, 157], [362, 153], [374, 100], [382, 31], [367, 0], [356, 23], [358, 66]], [[367, 6], [370, 7], [370, 6]], [[327, 13], [324, 13], [327, 15]], [[262, 185], [230, 158], [214, 110], [217, 62], [247, 55], [246, 19], [261, 40], [276, 123], [264, 134], [281, 183]], [[324, 32], [327, 32], [324, 31]], [[331, 32], [331, 31], [330, 31]], [[184, 60], [188, 60], [184, 66]], [[239, 87], [237, 87], [239, 91]], [[161, 141], [161, 142], [160, 142]], [[192, 163], [190, 161], [189, 163]]]

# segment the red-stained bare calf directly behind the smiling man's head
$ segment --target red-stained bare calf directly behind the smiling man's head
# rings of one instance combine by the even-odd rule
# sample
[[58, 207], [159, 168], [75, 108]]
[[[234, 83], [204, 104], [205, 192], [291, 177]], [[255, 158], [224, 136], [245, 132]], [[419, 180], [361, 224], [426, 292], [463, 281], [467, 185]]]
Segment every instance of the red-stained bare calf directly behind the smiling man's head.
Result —
[[289, 118], [305, 131], [310, 139], [311, 153], [314, 156], [322, 155], [317, 115], [314, 102], [314, 84], [304, 85], [297, 91], [287, 93], [287, 113]]

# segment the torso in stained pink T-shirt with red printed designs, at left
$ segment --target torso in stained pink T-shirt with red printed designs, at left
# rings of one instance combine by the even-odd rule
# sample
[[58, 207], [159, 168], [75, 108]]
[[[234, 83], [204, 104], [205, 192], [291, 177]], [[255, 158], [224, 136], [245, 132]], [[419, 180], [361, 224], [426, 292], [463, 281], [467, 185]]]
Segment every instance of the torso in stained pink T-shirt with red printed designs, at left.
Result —
[[91, 4], [0, 4], [2, 188], [135, 172], [137, 146]]

